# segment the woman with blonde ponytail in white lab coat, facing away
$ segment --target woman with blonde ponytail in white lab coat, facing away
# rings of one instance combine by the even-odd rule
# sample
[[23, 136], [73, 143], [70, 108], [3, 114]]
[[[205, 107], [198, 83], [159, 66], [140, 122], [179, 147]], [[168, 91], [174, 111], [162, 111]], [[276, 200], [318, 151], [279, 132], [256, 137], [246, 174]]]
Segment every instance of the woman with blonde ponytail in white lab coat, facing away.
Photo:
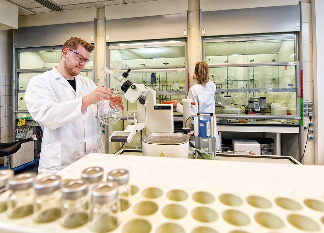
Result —
[[[215, 113], [215, 91], [216, 85], [209, 78], [209, 66], [206, 62], [197, 62], [195, 65], [194, 79], [196, 84], [189, 88], [187, 99], [198, 105], [192, 105], [191, 117], [194, 117], [197, 112]], [[175, 100], [173, 104], [177, 108], [177, 112], [182, 114], [182, 105]], [[220, 139], [216, 132], [216, 150], [219, 150]]]

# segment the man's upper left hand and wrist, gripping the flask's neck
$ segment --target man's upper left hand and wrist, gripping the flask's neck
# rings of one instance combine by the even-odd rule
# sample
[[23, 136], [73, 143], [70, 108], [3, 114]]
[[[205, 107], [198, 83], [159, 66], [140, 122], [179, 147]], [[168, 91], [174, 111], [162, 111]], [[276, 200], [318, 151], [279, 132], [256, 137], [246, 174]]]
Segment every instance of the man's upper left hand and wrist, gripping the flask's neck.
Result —
[[81, 111], [86, 109], [89, 105], [100, 102], [101, 100], [108, 100], [112, 94], [112, 90], [107, 87], [97, 87], [93, 92], [82, 98]]

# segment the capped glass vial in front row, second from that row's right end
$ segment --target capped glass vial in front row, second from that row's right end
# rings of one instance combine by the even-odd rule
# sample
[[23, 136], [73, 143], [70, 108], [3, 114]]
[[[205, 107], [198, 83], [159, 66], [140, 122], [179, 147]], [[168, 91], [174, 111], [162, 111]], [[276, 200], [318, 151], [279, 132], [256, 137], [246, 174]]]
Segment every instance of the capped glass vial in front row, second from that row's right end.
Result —
[[61, 187], [61, 225], [67, 228], [80, 227], [88, 222], [88, 183], [71, 180]]

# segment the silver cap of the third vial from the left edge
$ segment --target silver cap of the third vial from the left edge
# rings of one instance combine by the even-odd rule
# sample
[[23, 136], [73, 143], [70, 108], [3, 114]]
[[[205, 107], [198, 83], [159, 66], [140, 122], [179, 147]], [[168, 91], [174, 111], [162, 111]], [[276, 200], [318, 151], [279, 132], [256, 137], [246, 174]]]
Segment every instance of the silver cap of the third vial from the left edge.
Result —
[[61, 186], [61, 177], [58, 175], [48, 175], [41, 177], [33, 183], [36, 194], [50, 194], [58, 190]]

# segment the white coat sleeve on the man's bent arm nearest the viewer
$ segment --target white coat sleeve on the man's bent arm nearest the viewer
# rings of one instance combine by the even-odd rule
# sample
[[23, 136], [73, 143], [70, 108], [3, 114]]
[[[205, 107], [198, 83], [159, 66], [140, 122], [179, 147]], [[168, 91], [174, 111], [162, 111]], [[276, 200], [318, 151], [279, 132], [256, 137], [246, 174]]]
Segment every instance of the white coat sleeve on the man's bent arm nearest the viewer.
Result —
[[49, 129], [64, 126], [87, 112], [81, 112], [82, 97], [57, 102], [43, 79], [37, 76], [29, 81], [25, 102], [33, 119]]

